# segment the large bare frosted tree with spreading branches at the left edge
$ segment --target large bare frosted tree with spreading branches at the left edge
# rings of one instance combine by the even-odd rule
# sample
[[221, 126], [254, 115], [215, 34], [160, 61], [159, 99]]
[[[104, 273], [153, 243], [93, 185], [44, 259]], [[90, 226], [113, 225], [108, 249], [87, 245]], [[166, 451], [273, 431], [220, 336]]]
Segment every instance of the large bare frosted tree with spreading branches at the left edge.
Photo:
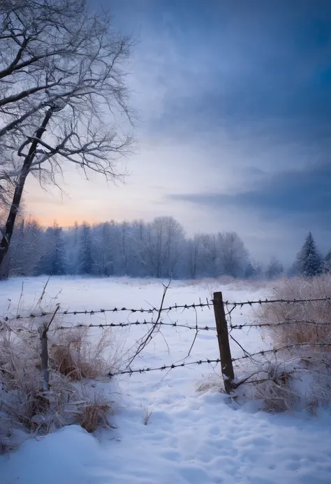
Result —
[[13, 0], [1, 2], [0, 22], [1, 265], [30, 173], [57, 184], [68, 162], [115, 179], [132, 138], [119, 130], [131, 119], [131, 41], [107, 17], [89, 15], [84, 0]]

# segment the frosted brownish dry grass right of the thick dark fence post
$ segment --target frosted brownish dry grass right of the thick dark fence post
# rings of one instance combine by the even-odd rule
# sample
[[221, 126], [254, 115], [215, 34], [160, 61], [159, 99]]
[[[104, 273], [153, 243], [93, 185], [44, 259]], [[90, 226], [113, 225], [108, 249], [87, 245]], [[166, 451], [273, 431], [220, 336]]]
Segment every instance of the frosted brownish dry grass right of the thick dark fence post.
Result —
[[[307, 300], [331, 295], [331, 277], [279, 279], [270, 298]], [[331, 302], [272, 303], [259, 307], [256, 319], [263, 337], [279, 351], [255, 372], [251, 396], [263, 408], [316, 411], [331, 402]], [[326, 345], [325, 345], [326, 344]], [[328, 346], [330, 344], [330, 346]]]

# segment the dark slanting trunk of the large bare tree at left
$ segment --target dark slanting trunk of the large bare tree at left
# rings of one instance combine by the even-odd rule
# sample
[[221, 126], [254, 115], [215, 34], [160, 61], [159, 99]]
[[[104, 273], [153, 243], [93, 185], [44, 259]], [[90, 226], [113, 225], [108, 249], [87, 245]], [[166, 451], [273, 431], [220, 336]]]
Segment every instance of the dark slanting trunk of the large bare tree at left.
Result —
[[52, 117], [53, 110], [54, 108], [49, 108], [47, 110], [41, 126], [36, 131], [36, 136], [35, 136], [36, 139], [34, 139], [34, 141], [31, 142], [29, 153], [24, 159], [24, 163], [20, 172], [20, 177], [18, 178], [18, 182], [14, 191], [13, 201], [10, 205], [10, 210], [6, 221], [5, 232], [3, 234], [1, 244], [0, 244], [0, 267], [3, 263], [3, 258], [6, 256], [10, 246], [10, 240], [13, 235], [17, 213], [18, 213], [18, 210], [20, 209], [20, 203], [22, 200], [24, 184], [27, 179], [27, 175], [29, 175], [30, 173], [31, 165], [34, 161], [34, 157], [36, 156], [36, 148], [38, 146], [38, 140], [41, 139], [43, 133], [45, 132], [46, 126], [50, 121], [50, 118]]

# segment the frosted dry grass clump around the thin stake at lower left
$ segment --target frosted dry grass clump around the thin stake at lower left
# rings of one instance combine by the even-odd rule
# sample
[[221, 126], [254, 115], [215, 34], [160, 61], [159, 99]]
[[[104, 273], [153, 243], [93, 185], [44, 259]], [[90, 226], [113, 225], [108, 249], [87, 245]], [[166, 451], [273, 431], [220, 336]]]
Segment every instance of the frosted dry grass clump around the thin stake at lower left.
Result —
[[[15, 448], [27, 434], [47, 434], [78, 423], [88, 432], [109, 425], [112, 402], [96, 395], [96, 380], [112, 369], [110, 331], [87, 328], [55, 331], [49, 336], [50, 392], [43, 390], [40, 339], [30, 321], [0, 330], [0, 446]], [[20, 321], [20, 327], [24, 321]], [[41, 322], [43, 324], [43, 322]], [[112, 355], [112, 357], [110, 356]]]

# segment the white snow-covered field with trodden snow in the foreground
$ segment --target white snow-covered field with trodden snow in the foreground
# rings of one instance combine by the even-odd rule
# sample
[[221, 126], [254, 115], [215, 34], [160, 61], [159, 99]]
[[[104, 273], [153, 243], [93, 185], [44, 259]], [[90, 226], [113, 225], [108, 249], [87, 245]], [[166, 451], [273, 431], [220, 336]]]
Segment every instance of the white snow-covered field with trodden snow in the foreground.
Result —
[[[29, 310], [38, 300], [45, 278], [0, 282], [0, 314], [15, 314], [20, 302]], [[263, 298], [267, 289], [220, 286], [216, 281], [187, 284], [173, 281], [165, 306], [204, 302], [212, 291], [228, 300]], [[61, 291], [61, 292], [60, 292]], [[47, 285], [52, 307], [61, 310], [111, 307], [158, 307], [160, 281], [133, 279], [54, 278]], [[10, 301], [9, 301], [10, 299]], [[8, 309], [9, 306], [9, 309]], [[64, 316], [64, 323], [141, 321], [149, 314], [120, 312], [94, 316]], [[233, 311], [233, 323], [252, 318], [251, 309]], [[214, 326], [213, 310], [204, 308], [163, 314], [164, 322]], [[96, 330], [101, 331], [101, 330]], [[145, 326], [114, 328], [115, 341], [126, 352], [146, 332]], [[234, 332], [247, 351], [270, 346], [258, 330]], [[132, 368], [160, 367], [172, 362], [219, 357], [216, 333], [163, 326], [133, 362]], [[233, 358], [242, 355], [232, 345]], [[239, 370], [238, 370], [239, 371]], [[331, 414], [269, 414], [258, 402], [244, 406], [219, 392], [219, 367], [193, 365], [170, 372], [118, 376], [103, 383], [111, 395], [115, 429], [97, 438], [77, 426], [44, 438], [30, 439], [20, 450], [0, 457], [1, 484], [326, 484], [331, 482]], [[145, 416], [149, 415], [147, 425]]]

